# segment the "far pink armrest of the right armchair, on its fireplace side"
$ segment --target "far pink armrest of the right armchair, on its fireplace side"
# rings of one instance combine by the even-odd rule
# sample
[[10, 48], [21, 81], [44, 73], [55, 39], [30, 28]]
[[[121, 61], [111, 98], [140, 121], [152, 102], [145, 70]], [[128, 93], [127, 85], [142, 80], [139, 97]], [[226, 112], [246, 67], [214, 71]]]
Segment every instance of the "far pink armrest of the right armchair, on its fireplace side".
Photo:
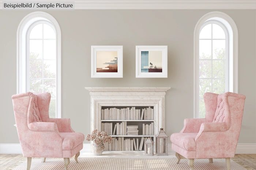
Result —
[[184, 127], [180, 133], [197, 133], [202, 123], [206, 122], [205, 118], [184, 119]]

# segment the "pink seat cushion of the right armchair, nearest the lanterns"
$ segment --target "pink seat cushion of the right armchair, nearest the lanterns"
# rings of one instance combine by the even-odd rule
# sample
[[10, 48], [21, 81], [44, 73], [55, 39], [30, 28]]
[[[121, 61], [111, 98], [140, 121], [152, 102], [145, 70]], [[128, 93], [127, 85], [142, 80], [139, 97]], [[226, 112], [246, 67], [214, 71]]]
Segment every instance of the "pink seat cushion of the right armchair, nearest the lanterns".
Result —
[[174, 133], [170, 139], [173, 144], [185, 149], [187, 151], [196, 150], [196, 138], [197, 133]]

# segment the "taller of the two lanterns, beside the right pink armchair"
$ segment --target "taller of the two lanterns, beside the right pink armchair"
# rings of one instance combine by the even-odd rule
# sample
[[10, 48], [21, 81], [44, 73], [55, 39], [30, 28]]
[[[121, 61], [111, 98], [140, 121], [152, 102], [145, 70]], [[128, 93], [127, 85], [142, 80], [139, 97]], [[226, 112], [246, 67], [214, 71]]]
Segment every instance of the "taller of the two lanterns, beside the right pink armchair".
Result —
[[156, 150], [157, 155], [168, 155], [168, 147], [167, 147], [167, 140], [168, 136], [163, 131], [163, 128], [160, 128], [160, 131], [157, 135], [155, 135], [157, 143], [156, 143]]

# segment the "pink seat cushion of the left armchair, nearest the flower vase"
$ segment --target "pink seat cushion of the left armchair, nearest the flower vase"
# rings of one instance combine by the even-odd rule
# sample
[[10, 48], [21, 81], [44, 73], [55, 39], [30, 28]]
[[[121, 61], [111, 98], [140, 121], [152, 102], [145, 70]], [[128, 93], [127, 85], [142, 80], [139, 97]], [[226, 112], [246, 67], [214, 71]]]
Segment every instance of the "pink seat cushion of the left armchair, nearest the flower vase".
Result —
[[63, 150], [72, 150], [84, 141], [84, 135], [79, 132], [60, 132], [60, 136], [63, 139]]

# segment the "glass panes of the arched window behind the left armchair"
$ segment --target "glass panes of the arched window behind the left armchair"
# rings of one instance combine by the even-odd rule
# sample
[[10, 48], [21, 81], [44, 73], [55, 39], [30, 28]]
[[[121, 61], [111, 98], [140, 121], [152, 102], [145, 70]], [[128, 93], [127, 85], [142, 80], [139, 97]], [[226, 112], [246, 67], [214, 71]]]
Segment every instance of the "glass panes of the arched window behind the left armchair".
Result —
[[51, 94], [49, 116], [56, 117], [56, 34], [46, 23], [29, 35], [29, 91]]

